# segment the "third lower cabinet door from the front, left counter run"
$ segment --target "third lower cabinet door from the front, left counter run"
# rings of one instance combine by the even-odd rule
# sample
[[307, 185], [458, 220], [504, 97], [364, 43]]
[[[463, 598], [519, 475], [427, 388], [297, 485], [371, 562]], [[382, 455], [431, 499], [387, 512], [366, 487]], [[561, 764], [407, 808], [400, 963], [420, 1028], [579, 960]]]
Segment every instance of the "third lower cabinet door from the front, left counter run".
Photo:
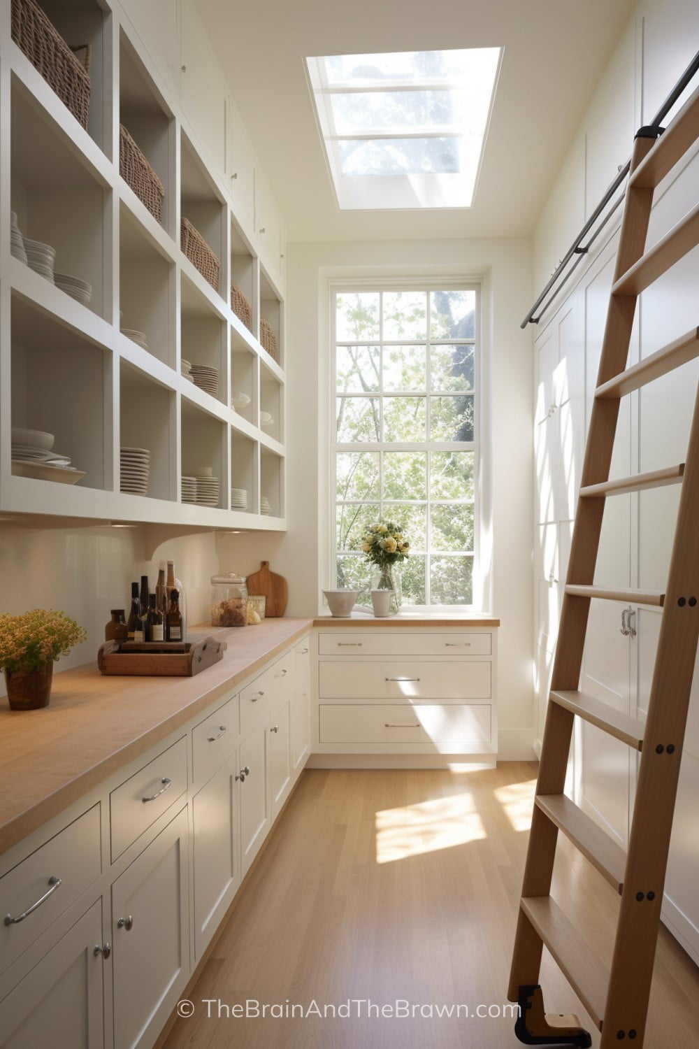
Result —
[[198, 961], [240, 884], [238, 764], [234, 757], [192, 801], [194, 954]]

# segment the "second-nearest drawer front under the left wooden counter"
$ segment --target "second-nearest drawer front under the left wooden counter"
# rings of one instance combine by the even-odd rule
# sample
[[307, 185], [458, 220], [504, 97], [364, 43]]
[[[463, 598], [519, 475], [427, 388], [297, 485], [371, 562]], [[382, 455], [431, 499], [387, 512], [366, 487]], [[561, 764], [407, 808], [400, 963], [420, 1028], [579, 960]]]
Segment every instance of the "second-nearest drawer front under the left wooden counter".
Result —
[[187, 790], [187, 740], [169, 747], [109, 795], [112, 863]]

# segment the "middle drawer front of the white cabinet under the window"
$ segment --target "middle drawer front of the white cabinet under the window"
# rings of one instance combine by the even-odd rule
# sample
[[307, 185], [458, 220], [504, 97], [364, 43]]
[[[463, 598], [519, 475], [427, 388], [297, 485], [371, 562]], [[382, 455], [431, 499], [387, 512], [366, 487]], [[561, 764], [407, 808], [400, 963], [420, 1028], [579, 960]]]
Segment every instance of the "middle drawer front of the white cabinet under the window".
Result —
[[322, 699], [476, 700], [490, 698], [490, 663], [332, 661], [319, 664], [319, 694]]

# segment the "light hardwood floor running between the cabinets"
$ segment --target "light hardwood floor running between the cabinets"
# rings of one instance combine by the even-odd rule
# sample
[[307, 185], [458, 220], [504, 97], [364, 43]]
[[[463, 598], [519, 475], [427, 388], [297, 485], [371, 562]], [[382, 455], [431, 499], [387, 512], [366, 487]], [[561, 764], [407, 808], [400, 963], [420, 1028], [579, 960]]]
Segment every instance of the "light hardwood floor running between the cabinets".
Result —
[[[520, 1045], [502, 1013], [536, 772], [305, 772], [165, 1049]], [[608, 939], [615, 895], [565, 839], [554, 884]], [[598, 1046], [546, 955], [541, 983]], [[699, 970], [663, 929], [645, 1047], [697, 1045]]]

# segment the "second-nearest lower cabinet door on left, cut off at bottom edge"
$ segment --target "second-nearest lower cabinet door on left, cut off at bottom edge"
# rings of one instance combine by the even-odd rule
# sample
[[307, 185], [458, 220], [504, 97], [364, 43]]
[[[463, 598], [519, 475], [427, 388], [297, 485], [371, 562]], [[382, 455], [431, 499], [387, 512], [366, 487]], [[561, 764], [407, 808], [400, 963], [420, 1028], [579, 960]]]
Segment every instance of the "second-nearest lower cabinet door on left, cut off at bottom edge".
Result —
[[112, 885], [114, 1047], [151, 1045], [189, 975], [182, 809]]

